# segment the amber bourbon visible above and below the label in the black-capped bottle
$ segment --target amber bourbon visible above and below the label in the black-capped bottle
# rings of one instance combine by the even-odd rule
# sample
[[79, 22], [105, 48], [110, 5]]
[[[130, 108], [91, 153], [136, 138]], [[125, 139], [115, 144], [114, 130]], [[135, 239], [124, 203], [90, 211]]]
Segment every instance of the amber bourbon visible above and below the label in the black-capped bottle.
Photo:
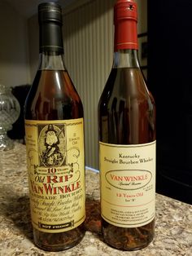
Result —
[[[39, 70], [25, 104], [25, 119], [67, 120], [83, 117], [81, 99], [67, 71]], [[35, 244], [59, 251], [78, 244], [85, 235], [84, 223], [68, 232], [47, 233], [33, 228]]]

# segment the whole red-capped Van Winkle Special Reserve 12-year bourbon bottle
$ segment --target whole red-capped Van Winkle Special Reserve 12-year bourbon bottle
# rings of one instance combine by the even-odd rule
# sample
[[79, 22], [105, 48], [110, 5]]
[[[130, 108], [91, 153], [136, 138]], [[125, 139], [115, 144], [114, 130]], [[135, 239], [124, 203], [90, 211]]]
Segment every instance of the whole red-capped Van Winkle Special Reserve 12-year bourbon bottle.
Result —
[[103, 238], [141, 249], [155, 234], [155, 103], [137, 60], [137, 5], [114, 7], [113, 67], [98, 104]]

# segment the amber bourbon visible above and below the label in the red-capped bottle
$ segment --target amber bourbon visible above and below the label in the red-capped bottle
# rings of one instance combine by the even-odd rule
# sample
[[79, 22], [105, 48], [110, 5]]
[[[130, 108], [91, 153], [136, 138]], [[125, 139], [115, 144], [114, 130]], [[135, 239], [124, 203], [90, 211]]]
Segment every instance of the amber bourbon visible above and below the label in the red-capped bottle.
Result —
[[[139, 68], [112, 68], [98, 104], [98, 127], [103, 143], [140, 144], [155, 140], [155, 103]], [[103, 219], [103, 238], [116, 249], [142, 249], [154, 234], [155, 220], [142, 227], [127, 228]]]

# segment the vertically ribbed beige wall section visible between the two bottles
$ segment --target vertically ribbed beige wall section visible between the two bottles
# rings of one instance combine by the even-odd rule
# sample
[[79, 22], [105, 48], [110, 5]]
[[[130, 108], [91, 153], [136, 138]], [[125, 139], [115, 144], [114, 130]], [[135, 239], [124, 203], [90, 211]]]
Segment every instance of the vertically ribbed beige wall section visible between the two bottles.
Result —
[[85, 111], [86, 165], [98, 168], [98, 100], [113, 57], [113, 5], [96, 0], [64, 15], [65, 60]]

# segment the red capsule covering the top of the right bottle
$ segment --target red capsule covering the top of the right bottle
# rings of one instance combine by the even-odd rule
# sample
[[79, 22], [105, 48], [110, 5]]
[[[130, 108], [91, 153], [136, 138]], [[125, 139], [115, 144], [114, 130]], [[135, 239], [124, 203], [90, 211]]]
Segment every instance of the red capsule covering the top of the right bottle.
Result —
[[117, 0], [114, 7], [115, 51], [138, 49], [137, 3], [133, 0]]

